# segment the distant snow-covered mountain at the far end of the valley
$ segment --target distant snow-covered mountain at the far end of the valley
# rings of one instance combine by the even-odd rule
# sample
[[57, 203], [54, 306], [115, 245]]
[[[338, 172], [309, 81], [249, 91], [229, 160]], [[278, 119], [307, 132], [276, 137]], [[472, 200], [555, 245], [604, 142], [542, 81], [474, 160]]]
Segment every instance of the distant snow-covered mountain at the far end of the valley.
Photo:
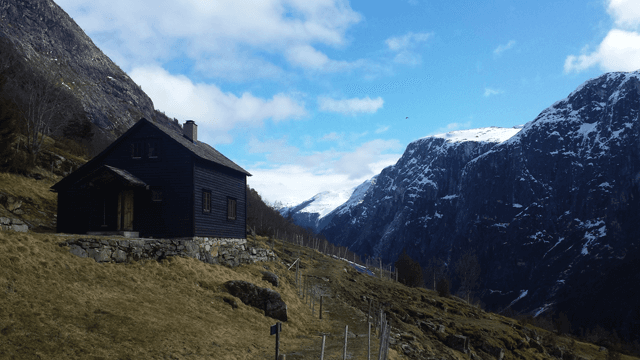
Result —
[[302, 203], [279, 209], [285, 218], [291, 218], [296, 225], [319, 233], [337, 213], [342, 213], [360, 203], [372, 184], [373, 177], [353, 189], [343, 191], [323, 191]]

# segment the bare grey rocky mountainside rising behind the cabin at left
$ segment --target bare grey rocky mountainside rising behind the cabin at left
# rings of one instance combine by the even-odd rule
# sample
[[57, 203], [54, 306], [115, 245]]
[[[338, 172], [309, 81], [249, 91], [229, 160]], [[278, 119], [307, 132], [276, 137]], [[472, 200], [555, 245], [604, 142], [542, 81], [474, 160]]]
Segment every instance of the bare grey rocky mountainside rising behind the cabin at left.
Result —
[[106, 146], [141, 117], [176, 126], [154, 110], [140, 86], [51, 0], [0, 3], [0, 40], [3, 52], [24, 61], [27, 71], [60, 81], [80, 100], [95, 125], [97, 147]]

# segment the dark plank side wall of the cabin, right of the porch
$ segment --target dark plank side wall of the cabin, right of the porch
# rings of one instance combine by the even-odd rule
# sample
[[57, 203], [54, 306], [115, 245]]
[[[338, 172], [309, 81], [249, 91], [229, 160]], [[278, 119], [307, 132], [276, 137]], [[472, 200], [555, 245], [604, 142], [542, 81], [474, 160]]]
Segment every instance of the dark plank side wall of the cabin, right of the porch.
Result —
[[[194, 163], [195, 236], [245, 238], [246, 176], [205, 161]], [[211, 192], [211, 211], [204, 212], [202, 192]], [[237, 201], [235, 220], [227, 218], [227, 199]]]

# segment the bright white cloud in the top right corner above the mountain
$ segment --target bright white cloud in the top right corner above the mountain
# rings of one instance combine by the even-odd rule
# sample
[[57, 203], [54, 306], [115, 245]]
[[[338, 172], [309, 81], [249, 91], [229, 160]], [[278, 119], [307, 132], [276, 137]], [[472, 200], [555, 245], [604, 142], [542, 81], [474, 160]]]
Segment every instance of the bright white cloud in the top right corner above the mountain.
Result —
[[640, 2], [610, 0], [607, 12], [616, 28], [611, 29], [597, 49], [580, 55], [569, 55], [564, 62], [565, 73], [580, 72], [593, 66], [604, 71], [635, 71], [640, 69]]

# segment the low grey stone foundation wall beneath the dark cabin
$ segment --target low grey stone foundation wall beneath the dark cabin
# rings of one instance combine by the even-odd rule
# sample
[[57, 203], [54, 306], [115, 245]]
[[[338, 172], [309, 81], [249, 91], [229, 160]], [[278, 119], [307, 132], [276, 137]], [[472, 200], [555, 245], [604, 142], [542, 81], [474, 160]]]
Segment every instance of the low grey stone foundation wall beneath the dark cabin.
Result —
[[250, 247], [246, 239], [185, 238], [185, 239], [104, 239], [78, 237], [60, 246], [69, 246], [70, 252], [90, 257], [97, 262], [161, 260], [167, 256], [188, 256], [209, 264], [229, 267], [257, 261], [274, 261], [273, 251]]

